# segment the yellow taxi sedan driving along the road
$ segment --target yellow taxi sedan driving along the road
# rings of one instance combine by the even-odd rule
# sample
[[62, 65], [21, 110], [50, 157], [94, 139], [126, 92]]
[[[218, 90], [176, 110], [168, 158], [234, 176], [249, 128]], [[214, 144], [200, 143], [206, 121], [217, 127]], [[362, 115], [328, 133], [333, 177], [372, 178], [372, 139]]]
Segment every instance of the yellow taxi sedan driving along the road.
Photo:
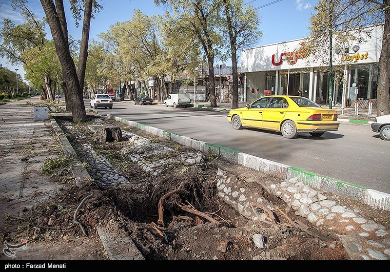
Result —
[[243, 108], [229, 111], [228, 122], [234, 129], [256, 127], [282, 132], [286, 138], [309, 132], [322, 136], [326, 131], [336, 131], [337, 110], [323, 108], [302, 96], [263, 96]]

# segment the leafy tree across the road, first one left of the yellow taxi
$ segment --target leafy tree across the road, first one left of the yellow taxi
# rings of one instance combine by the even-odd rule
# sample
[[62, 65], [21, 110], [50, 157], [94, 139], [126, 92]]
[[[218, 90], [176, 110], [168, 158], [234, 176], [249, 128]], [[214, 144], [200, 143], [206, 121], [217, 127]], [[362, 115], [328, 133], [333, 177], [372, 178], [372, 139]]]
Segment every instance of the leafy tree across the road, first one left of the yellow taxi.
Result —
[[218, 31], [220, 0], [155, 0], [155, 3], [171, 6], [180, 19], [181, 30], [195, 37], [202, 47], [209, 67], [210, 105], [216, 107], [214, 59], [220, 53], [222, 40]]

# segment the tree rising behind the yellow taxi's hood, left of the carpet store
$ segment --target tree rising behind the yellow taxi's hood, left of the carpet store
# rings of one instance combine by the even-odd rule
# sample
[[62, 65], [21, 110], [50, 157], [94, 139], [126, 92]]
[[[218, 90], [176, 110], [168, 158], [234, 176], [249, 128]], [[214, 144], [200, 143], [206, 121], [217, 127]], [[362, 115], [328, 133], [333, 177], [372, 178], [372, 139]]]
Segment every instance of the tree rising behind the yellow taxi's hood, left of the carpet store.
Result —
[[222, 29], [227, 32], [232, 56], [233, 100], [232, 107], [238, 108], [237, 51], [258, 41], [262, 32], [257, 29], [259, 17], [253, 7], [243, 8], [243, 0], [222, 0], [225, 20]]

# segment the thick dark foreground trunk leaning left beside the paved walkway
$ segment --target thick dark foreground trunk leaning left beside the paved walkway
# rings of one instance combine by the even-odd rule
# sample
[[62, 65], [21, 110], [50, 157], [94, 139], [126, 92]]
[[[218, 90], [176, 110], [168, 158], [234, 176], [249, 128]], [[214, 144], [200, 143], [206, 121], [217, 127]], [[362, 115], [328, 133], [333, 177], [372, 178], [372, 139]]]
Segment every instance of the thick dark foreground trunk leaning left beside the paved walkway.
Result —
[[[65, 33], [63, 33], [64, 26], [61, 25], [54, 2], [52, 0], [40, 0], [40, 2], [46, 14], [59, 62], [61, 63], [63, 84], [67, 90], [65, 96], [67, 102], [70, 103], [69, 106], [72, 110], [73, 121], [84, 122], [87, 120], [87, 114], [82, 100], [82, 91], [78, 82], [75, 63], [70, 54], [69, 43], [66, 42]], [[62, 1], [56, 0], [56, 3], [59, 2], [62, 3]], [[63, 19], [65, 19], [65, 17]], [[66, 24], [66, 21], [62, 21], [62, 23]]]

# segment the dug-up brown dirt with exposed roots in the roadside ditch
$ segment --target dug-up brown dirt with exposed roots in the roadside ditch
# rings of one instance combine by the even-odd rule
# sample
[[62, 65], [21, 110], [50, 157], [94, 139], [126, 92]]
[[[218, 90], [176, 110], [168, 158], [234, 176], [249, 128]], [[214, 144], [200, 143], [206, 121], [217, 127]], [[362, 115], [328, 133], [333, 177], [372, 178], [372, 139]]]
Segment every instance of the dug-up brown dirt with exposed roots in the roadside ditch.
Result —
[[[73, 248], [83, 244], [84, 253], [77, 255], [79, 259], [108, 259], [97, 233], [97, 227], [104, 227], [113, 232], [120, 230], [121, 235], [130, 237], [145, 259], [349, 259], [335, 234], [313, 228], [306, 219], [296, 216], [283, 201], [267, 190], [261, 192], [263, 197], [283, 210], [291, 220], [306, 225], [309, 231], [294, 228], [289, 224], [280, 225], [276, 229], [249, 220], [225, 204], [217, 194], [218, 168], [229, 169], [243, 181], [255, 180], [257, 184], [264, 186], [280, 182], [277, 178], [227, 164], [218, 157], [208, 154], [203, 154], [204, 160], [201, 163], [184, 164], [180, 159], [183, 154], [198, 151], [115, 121], [96, 116], [89, 118], [90, 120], [82, 125], [73, 124], [66, 117], [56, 120], [86, 169], [95, 177], [95, 182], [90, 186], [78, 188], [74, 182], [70, 182], [68, 170], [55, 171], [58, 174], [51, 178], [52, 181], [62, 180], [64, 183], [56, 198], [44, 205], [26, 209], [20, 218], [8, 218], [2, 241], [16, 242], [27, 238], [32, 249], [35, 245], [36, 248], [41, 247], [41, 250], [44, 245], [50, 245], [51, 253], [46, 257], [53, 259], [75, 258], [74, 254], [75, 252], [77, 254], [77, 251]], [[129, 153], [123, 153], [124, 147], [136, 150], [134, 143], [126, 140], [100, 143], [89, 128], [96, 125], [120, 126], [124, 132], [147, 139], [149, 144], [145, 146], [151, 145], [150, 143], [163, 145], [171, 148], [164, 149], [170, 152], [154, 154], [148, 162], [144, 158], [143, 161], [135, 163], [129, 159]], [[85, 152], [86, 146], [95, 150], [95, 155]], [[150, 149], [142, 149], [140, 152], [139, 148], [138, 154]], [[95, 156], [95, 159], [97, 156], [104, 156], [107, 159], [104, 162], [105, 166], [109, 163], [110, 169], [119, 176], [117, 181], [123, 182], [107, 185], [102, 180], [103, 175], [96, 175], [96, 171], [99, 170], [90, 164], [90, 156]], [[154, 174], [155, 170], [149, 172], [145, 170], [146, 163], [155, 163], [159, 166], [158, 162], [161, 159], [170, 159], [172, 163], [163, 165], [162, 171], [157, 175]], [[163, 205], [164, 227], [158, 228], [163, 236], [158, 236], [151, 227], [151, 224], [157, 224], [159, 219], [158, 202], [164, 194], [180, 186], [182, 186], [180, 191], [167, 198]], [[81, 228], [73, 224], [73, 218], [81, 201], [92, 193], [93, 197], [80, 207], [77, 214], [78, 221], [82, 223], [87, 233], [87, 236], [84, 236]], [[186, 212], [178, 204], [188, 205], [205, 213], [217, 220], [218, 224]], [[362, 205], [358, 205], [357, 208], [362, 210]], [[370, 212], [370, 209], [367, 208], [365, 212]], [[388, 216], [388, 213], [386, 214]], [[277, 218], [280, 222], [282, 219], [285, 220], [282, 216]], [[372, 218], [378, 219], [374, 212]], [[388, 218], [380, 218], [380, 223], [388, 224]], [[254, 234], [261, 234], [264, 237], [263, 248], [255, 245]]]

